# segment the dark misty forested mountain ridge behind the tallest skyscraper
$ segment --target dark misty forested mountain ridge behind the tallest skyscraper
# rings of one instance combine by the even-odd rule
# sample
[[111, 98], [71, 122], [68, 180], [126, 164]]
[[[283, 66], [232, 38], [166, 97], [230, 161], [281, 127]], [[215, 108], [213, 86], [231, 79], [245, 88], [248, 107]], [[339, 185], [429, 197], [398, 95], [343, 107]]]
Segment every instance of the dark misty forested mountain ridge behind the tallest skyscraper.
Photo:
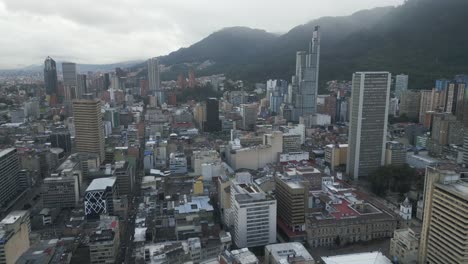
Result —
[[[323, 17], [277, 36], [262, 30], [227, 28], [188, 48], [161, 57], [171, 79], [189, 65], [212, 61], [197, 75], [226, 73], [251, 82], [289, 80], [295, 53], [306, 50], [321, 28], [320, 80], [351, 79], [355, 71], [388, 70], [410, 75], [410, 88], [431, 88], [437, 78], [468, 73], [466, 0], [407, 0], [398, 7]], [[164, 76], [163, 76], [164, 78]]]

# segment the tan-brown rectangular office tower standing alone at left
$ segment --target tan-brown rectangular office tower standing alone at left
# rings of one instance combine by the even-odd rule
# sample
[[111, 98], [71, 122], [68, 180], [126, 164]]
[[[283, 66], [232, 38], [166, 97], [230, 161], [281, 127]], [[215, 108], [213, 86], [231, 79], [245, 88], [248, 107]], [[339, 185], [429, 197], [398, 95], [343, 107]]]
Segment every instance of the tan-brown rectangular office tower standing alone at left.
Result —
[[94, 153], [104, 160], [104, 131], [101, 101], [79, 99], [73, 101], [75, 144], [78, 152]]

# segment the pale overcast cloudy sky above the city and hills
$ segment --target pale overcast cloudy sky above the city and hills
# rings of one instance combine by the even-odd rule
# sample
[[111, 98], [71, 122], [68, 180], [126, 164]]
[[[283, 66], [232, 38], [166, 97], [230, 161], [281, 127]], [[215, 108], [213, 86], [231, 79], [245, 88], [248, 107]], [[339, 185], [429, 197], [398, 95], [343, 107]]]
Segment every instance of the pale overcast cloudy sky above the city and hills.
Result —
[[0, 69], [56, 61], [105, 64], [166, 55], [210, 33], [285, 33], [322, 16], [403, 0], [0, 0]]

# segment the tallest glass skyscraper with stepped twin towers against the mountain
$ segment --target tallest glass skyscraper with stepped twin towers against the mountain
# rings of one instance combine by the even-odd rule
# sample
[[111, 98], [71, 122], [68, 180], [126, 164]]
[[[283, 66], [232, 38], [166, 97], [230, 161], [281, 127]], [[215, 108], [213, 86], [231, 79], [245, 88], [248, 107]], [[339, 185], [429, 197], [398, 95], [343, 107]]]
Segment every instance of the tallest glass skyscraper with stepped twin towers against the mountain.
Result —
[[296, 55], [296, 75], [292, 78], [295, 121], [317, 112], [319, 62], [320, 34], [317, 26], [309, 44], [309, 53], [298, 51]]

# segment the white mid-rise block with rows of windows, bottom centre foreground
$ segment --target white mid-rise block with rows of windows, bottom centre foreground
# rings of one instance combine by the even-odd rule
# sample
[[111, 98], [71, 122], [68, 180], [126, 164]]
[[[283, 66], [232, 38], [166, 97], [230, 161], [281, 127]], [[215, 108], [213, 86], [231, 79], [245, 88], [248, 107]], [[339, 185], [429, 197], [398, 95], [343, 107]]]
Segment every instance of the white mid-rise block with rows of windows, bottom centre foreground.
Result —
[[253, 183], [231, 183], [234, 242], [237, 247], [276, 242], [276, 200]]

